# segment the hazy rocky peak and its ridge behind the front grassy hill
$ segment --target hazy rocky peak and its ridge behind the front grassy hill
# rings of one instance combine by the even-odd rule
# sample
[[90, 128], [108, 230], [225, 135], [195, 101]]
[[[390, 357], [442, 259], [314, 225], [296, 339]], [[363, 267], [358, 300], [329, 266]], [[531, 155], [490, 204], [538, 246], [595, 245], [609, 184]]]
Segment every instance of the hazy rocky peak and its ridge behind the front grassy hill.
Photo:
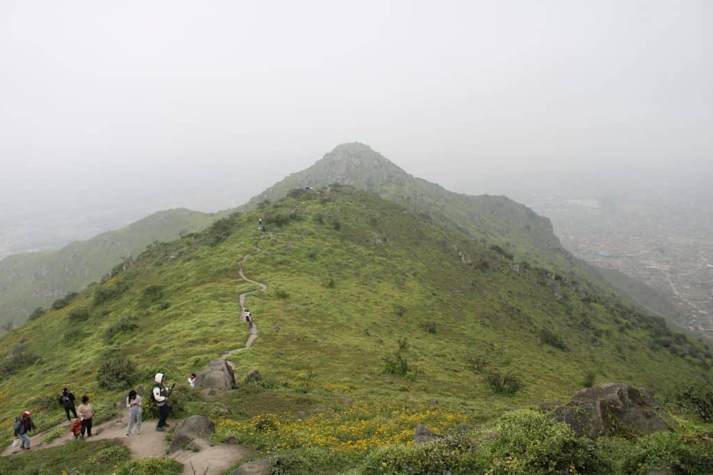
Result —
[[379, 194], [481, 244], [499, 246], [503, 254], [529, 266], [541, 266], [578, 281], [590, 292], [615, 302], [622, 297], [677, 321], [674, 308], [662, 303], [644, 283], [600, 271], [563, 248], [548, 218], [508, 197], [469, 196], [449, 192], [403, 169], [355, 142], [339, 145], [322, 160], [284, 178], [237, 209], [249, 211], [284, 197], [291, 189], [339, 183]]

